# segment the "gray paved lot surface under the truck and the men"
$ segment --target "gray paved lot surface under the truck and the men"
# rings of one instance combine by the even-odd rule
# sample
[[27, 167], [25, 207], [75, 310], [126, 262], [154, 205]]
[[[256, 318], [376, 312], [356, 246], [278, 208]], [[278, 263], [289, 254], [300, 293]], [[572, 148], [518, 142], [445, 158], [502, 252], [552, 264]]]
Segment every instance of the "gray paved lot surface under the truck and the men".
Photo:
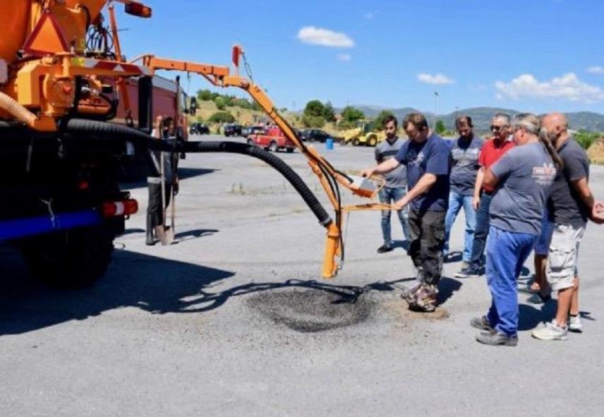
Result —
[[[371, 148], [317, 146], [345, 171], [373, 164]], [[279, 156], [328, 207], [302, 155]], [[189, 155], [181, 174], [178, 243], [145, 246], [147, 191], [125, 184], [142, 210], [90, 288], [49, 289], [0, 246], [1, 416], [601, 412], [604, 228], [590, 224], [581, 247], [584, 333], [532, 339], [555, 301], [520, 294], [519, 345], [494, 348], [469, 327], [490, 304], [485, 281], [454, 279], [459, 261], [445, 265], [435, 313], [406, 308], [399, 295], [413, 268], [400, 246], [375, 253], [379, 213], [346, 218], [346, 262], [324, 280], [325, 232], [276, 171], [238, 155]], [[604, 199], [602, 167], [591, 183]], [[460, 214], [452, 250], [463, 224]], [[401, 238], [397, 224], [393, 233]], [[532, 260], [526, 267], [521, 285]]]

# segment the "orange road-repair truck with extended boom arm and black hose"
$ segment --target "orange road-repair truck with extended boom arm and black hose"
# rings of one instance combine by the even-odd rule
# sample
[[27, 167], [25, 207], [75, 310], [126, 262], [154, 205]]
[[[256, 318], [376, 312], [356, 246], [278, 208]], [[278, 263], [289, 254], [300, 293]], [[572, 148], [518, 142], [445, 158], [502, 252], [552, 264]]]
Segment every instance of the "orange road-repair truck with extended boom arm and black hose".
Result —
[[[378, 187], [338, 171], [300, 140], [253, 82], [241, 47], [233, 48], [232, 70], [152, 54], [127, 60], [117, 4], [129, 15], [152, 16], [149, 6], [135, 0], [0, 1], [0, 241], [18, 246], [31, 269], [54, 284], [92, 282], [106, 270], [125, 219], [138, 210], [117, 181], [124, 157], [149, 157], [150, 150], [228, 152], [261, 159], [291, 183], [326, 230], [321, 275], [334, 277], [344, 260], [344, 214], [391, 208], [344, 205], [339, 188], [374, 198]], [[239, 73], [242, 60], [247, 78]], [[179, 122], [184, 110], [178, 85], [166, 97], [158, 92], [157, 71], [194, 73], [215, 87], [247, 92], [307, 159], [334, 217], [291, 167], [261, 147], [152, 138], [155, 115], [168, 111], [159, 102]], [[147, 170], [159, 176], [154, 164]]]

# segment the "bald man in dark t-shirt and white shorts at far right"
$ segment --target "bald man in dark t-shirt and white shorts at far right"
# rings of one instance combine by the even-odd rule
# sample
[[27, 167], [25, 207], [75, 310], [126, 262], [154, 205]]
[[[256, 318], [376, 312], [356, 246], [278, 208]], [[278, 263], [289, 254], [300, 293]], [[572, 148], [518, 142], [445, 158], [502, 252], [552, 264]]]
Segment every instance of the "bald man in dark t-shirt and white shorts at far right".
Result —
[[545, 273], [552, 290], [558, 291], [557, 312], [554, 320], [533, 330], [533, 337], [566, 340], [569, 330], [581, 332], [583, 328], [579, 318], [579, 243], [587, 219], [597, 224], [604, 219], [599, 212], [602, 203], [594, 200], [588, 186], [589, 159], [569, 136], [566, 117], [560, 113], [548, 114], [543, 117], [542, 126], [564, 167], [558, 170], [548, 198], [552, 231]]

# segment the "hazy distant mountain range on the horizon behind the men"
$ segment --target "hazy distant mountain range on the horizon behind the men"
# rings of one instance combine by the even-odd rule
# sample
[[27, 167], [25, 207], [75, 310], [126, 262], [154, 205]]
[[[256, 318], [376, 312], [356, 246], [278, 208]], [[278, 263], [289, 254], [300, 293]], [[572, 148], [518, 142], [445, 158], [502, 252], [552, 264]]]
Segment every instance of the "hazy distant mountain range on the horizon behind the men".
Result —
[[[417, 109], [413, 109], [412, 107], [403, 107], [401, 109], [387, 109], [385, 107], [379, 106], [368, 106], [365, 104], [354, 105], [357, 109], [363, 111], [366, 117], [369, 119], [375, 118], [377, 114], [382, 110], [389, 110], [397, 116], [399, 121], [408, 113], [411, 112], [419, 112], [423, 113], [430, 123], [430, 126], [433, 126], [435, 114], [419, 111]], [[342, 109], [335, 109], [337, 113], [340, 113]], [[454, 130], [454, 123], [457, 116], [461, 116], [462, 114], [467, 114], [472, 118], [472, 122], [476, 131], [486, 132], [490, 126], [491, 118], [495, 113], [506, 113], [510, 116], [514, 116], [515, 114], [519, 114], [520, 111], [514, 109], [499, 109], [497, 107], [471, 107], [469, 109], [459, 109], [449, 114], [438, 114], [437, 119], [442, 120], [445, 123], [447, 129]], [[604, 132], [604, 114], [593, 113], [591, 111], [576, 111], [573, 113], [566, 114], [567, 119], [569, 121], [570, 128], [578, 131], [579, 129], [585, 129], [586, 131], [598, 131]]]

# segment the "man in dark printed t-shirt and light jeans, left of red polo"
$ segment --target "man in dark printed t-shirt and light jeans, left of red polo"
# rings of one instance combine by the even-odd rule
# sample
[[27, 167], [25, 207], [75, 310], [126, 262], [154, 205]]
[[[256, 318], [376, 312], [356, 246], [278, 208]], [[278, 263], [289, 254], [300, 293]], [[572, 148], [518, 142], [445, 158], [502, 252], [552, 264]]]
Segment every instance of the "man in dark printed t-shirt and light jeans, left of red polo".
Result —
[[481, 167], [478, 157], [485, 141], [474, 135], [470, 116], [459, 116], [455, 120], [459, 138], [451, 144], [451, 192], [449, 193], [449, 210], [445, 217], [445, 257], [449, 254], [449, 236], [457, 214], [464, 207], [466, 215], [466, 234], [464, 253], [461, 258], [461, 270], [469, 267], [472, 258], [472, 243], [476, 227], [476, 210], [472, 206], [476, 174]]

